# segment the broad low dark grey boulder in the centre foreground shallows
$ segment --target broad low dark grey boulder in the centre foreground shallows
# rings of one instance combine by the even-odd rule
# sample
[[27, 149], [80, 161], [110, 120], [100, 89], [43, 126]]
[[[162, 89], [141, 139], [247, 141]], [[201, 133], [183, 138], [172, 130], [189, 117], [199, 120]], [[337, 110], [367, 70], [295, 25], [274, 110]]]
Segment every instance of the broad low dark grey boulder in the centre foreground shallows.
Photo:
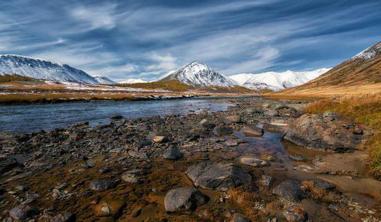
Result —
[[227, 191], [251, 182], [251, 176], [231, 163], [199, 163], [188, 167], [186, 174], [195, 186]]

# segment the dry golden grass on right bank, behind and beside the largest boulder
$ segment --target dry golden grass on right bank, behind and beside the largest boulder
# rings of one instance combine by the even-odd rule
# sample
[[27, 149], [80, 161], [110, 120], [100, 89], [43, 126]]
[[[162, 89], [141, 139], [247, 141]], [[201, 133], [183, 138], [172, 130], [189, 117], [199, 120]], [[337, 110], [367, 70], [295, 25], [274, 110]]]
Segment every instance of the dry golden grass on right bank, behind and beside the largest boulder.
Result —
[[344, 95], [337, 99], [312, 102], [305, 107], [306, 113], [334, 111], [353, 118], [374, 131], [366, 142], [366, 149], [372, 161], [371, 173], [381, 178], [381, 93]]

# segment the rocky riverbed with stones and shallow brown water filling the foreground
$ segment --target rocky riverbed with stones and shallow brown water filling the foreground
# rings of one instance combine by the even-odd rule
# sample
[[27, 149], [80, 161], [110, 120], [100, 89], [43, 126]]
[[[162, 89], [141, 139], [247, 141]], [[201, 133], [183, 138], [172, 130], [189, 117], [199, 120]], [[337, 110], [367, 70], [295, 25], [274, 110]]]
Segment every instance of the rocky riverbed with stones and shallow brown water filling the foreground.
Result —
[[306, 101], [0, 137], [2, 221], [380, 221], [371, 132]]

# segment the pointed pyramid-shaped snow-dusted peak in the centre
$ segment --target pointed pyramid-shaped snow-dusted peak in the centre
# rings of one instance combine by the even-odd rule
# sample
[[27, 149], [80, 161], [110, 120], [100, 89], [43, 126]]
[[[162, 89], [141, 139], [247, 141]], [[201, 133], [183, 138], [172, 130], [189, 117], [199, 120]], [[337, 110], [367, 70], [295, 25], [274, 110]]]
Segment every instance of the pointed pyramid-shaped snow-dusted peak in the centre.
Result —
[[236, 86], [236, 82], [229, 77], [221, 75], [213, 68], [199, 62], [179, 68], [177, 71], [169, 73], [161, 80], [179, 80], [182, 84], [192, 86]]

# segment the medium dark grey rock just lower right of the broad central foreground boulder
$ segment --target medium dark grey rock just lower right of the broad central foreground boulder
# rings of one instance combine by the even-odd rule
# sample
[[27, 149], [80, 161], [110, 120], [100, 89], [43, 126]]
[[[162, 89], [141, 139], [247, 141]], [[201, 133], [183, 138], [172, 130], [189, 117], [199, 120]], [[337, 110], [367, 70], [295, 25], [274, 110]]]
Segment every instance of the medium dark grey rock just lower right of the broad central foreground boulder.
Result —
[[297, 181], [284, 181], [276, 186], [272, 193], [290, 202], [299, 202], [305, 198], [305, 192], [301, 190], [301, 185]]

